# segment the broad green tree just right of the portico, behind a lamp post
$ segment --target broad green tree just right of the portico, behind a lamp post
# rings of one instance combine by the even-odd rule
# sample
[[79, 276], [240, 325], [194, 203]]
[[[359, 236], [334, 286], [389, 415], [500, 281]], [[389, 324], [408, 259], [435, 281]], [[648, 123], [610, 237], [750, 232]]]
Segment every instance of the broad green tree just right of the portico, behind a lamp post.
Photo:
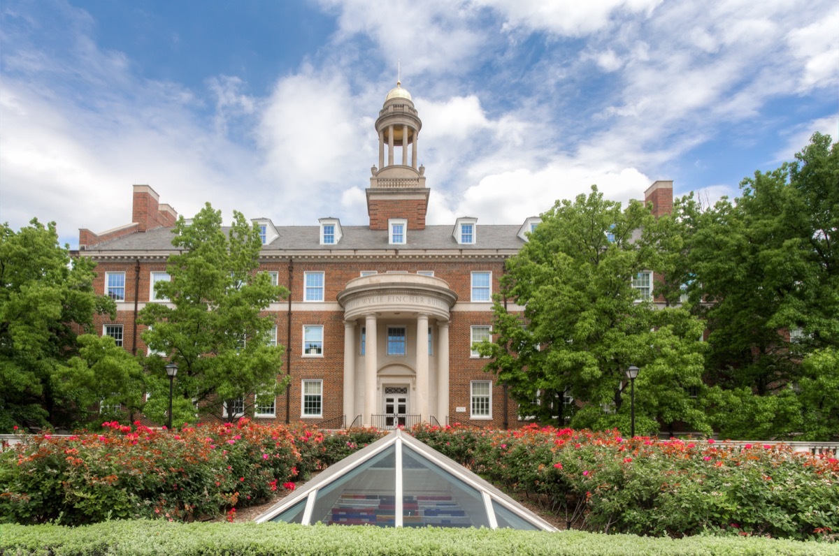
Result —
[[542, 215], [502, 278], [503, 299], [524, 315], [496, 299], [496, 339], [479, 346], [522, 413], [567, 417], [557, 402], [565, 393], [576, 400], [565, 407], [573, 426], [628, 431], [622, 388], [636, 365], [639, 430], [657, 431], [654, 419], [710, 430], [690, 395], [701, 388], [701, 321], [679, 307], [654, 309], [645, 289], [648, 273], [672, 260], [659, 250], [672, 229], [643, 204], [622, 210], [596, 187]]

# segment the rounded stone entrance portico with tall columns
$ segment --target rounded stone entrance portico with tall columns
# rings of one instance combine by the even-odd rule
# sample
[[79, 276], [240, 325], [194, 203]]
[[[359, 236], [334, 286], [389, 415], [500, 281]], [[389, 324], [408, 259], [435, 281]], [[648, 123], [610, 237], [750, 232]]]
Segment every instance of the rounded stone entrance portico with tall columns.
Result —
[[344, 414], [361, 414], [365, 426], [390, 410], [425, 422], [449, 414], [449, 318], [456, 300], [445, 280], [419, 274], [374, 274], [347, 283], [338, 294]]

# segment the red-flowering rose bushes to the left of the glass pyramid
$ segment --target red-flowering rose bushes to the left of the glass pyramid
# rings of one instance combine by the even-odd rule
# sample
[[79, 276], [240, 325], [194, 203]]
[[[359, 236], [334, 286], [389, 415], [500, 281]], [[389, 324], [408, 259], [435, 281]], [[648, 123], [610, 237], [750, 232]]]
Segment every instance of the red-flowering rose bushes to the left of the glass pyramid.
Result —
[[379, 434], [325, 437], [248, 419], [171, 433], [116, 422], [104, 429], [34, 435], [0, 454], [0, 522], [215, 517], [294, 489], [294, 481]]

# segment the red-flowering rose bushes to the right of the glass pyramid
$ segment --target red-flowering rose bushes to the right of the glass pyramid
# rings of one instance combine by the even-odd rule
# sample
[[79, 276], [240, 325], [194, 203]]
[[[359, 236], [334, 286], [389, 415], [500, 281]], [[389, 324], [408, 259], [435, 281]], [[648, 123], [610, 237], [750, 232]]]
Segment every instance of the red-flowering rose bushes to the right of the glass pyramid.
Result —
[[835, 540], [839, 533], [839, 461], [830, 456], [536, 425], [413, 432], [488, 481], [564, 516], [568, 527], [677, 537]]

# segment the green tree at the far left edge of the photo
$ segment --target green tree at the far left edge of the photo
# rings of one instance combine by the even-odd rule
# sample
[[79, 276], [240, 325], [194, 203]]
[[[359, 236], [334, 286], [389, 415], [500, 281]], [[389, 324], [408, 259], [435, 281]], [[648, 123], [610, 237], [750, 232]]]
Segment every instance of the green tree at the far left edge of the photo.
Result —
[[94, 266], [70, 258], [55, 222], [34, 219], [18, 232], [0, 226], [0, 430], [68, 427], [85, 413], [55, 377], [93, 314], [116, 314], [111, 299], [93, 292]]

